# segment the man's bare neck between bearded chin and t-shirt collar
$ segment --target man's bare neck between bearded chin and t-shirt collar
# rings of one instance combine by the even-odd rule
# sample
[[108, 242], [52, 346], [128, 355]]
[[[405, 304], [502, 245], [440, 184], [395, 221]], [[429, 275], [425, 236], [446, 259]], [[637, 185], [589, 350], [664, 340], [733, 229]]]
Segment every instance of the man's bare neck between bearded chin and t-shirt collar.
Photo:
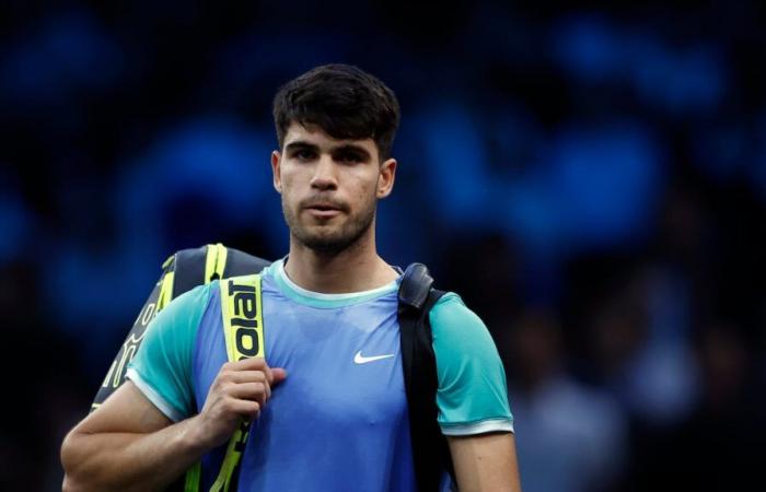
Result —
[[378, 256], [374, 238], [369, 237], [338, 254], [317, 253], [291, 237], [285, 271], [303, 289], [325, 294], [369, 291], [398, 277]]

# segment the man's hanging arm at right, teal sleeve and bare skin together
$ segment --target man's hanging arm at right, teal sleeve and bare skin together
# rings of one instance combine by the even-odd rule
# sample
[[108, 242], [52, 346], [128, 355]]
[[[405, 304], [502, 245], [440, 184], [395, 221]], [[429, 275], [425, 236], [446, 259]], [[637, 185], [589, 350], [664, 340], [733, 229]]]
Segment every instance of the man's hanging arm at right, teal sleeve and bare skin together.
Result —
[[439, 424], [461, 492], [521, 491], [506, 374], [481, 319], [455, 294], [431, 309]]

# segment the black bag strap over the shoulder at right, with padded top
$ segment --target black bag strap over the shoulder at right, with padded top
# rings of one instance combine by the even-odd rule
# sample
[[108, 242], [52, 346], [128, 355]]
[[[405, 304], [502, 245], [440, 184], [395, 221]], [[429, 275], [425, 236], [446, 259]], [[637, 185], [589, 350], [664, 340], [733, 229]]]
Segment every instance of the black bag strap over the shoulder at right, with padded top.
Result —
[[446, 438], [439, 427], [437, 358], [429, 313], [445, 294], [432, 289], [433, 279], [422, 263], [413, 263], [399, 284], [398, 320], [404, 384], [407, 393], [409, 435], [415, 478], [420, 492], [438, 491], [444, 471], [454, 470]]

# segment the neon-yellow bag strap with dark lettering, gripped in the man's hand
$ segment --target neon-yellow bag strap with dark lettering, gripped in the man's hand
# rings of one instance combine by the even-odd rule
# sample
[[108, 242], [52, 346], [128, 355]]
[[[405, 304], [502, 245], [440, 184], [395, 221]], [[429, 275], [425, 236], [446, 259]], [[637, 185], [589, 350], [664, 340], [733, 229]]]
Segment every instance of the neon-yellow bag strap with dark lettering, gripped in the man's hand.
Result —
[[[222, 280], [221, 315], [229, 361], [263, 358], [264, 320], [260, 300], [260, 276], [234, 277]], [[249, 422], [242, 421], [229, 441], [227, 454], [210, 492], [228, 492], [234, 470], [242, 458], [249, 434]]]

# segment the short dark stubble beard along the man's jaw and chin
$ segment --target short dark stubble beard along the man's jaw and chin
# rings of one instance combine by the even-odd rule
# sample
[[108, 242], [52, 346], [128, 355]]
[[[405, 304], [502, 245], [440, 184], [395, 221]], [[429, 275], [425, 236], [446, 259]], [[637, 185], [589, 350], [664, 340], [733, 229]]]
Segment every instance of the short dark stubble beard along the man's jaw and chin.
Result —
[[323, 256], [336, 256], [356, 246], [372, 227], [375, 219], [375, 203], [372, 200], [358, 214], [349, 216], [340, 226], [332, 230], [306, 226], [299, 218], [301, 210], [295, 213], [282, 197], [282, 213], [290, 229], [290, 235], [300, 244]]

